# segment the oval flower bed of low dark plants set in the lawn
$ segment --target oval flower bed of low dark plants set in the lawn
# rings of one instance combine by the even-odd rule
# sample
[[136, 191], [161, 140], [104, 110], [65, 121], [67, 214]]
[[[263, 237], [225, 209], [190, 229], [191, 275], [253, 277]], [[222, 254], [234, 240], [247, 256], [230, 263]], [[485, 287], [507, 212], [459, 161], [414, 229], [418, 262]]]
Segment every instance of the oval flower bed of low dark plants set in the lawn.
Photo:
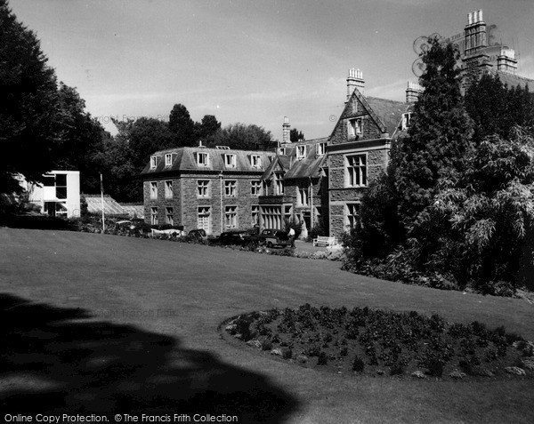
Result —
[[265, 355], [337, 373], [443, 380], [532, 378], [534, 344], [500, 327], [369, 308], [272, 309], [223, 332]]

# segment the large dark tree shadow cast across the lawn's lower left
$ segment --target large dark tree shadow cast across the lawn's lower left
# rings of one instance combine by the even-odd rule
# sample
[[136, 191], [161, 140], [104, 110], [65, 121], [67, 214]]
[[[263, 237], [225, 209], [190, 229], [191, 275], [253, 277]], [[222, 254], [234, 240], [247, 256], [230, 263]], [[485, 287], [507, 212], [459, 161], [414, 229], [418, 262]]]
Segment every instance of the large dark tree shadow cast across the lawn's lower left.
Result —
[[[80, 321], [83, 309], [0, 295], [0, 414], [238, 415], [278, 422], [293, 396], [260, 374], [131, 325]], [[113, 418], [110, 417], [113, 422]]]

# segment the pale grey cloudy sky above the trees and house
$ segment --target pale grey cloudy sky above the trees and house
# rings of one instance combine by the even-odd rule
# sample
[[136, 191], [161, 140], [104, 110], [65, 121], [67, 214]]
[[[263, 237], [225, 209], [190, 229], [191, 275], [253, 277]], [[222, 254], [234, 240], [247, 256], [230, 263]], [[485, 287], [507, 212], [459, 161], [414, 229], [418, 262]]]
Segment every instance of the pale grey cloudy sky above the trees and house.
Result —
[[349, 68], [365, 94], [405, 100], [419, 36], [454, 36], [481, 9], [534, 78], [534, 0], [11, 0], [58, 79], [114, 133], [110, 117], [257, 124], [281, 140], [284, 116], [307, 140], [344, 108]]

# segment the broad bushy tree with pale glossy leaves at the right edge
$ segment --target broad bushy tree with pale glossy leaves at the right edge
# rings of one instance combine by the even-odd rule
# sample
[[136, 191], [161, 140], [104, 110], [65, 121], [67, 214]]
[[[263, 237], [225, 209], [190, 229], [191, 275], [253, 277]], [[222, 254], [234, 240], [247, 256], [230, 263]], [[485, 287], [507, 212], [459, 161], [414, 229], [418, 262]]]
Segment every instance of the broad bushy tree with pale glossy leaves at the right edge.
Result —
[[534, 248], [532, 134], [516, 127], [509, 140], [491, 136], [467, 163], [457, 181], [442, 181], [426, 215], [431, 228], [436, 220], [449, 226], [440, 231], [447, 243], [435, 246], [433, 260], [446, 259], [440, 268], [452, 268], [460, 283], [472, 281], [482, 292], [494, 293], [499, 281], [524, 284], [521, 265], [532, 267]]

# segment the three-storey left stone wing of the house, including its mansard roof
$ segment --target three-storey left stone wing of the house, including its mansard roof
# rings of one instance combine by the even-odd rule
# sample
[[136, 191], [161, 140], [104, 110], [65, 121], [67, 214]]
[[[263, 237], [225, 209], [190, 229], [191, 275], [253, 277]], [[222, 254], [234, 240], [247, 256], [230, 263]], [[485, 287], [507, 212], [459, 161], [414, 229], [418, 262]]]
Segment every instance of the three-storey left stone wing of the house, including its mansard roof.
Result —
[[[259, 221], [259, 196], [264, 168], [275, 156], [271, 152], [179, 148], [156, 152], [174, 153], [173, 164], [142, 172], [145, 220], [150, 224], [182, 225], [185, 231], [204, 228], [208, 234], [251, 228]], [[194, 158], [207, 154], [210, 163], [199, 166]], [[235, 164], [226, 166], [227, 155]], [[260, 164], [252, 164], [251, 156]]]

